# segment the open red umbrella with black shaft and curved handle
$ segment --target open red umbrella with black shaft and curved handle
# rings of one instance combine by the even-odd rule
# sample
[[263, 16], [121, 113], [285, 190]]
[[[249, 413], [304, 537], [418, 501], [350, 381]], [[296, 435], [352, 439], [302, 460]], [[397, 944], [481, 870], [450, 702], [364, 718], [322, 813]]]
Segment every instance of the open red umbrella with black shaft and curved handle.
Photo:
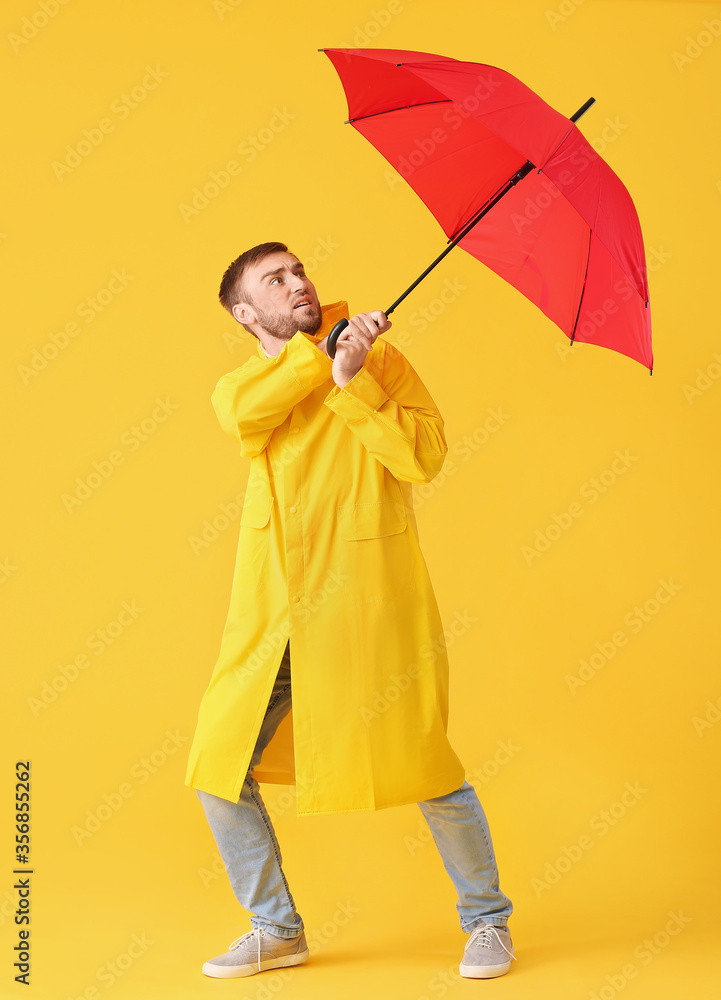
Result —
[[[349, 122], [456, 245], [534, 302], [571, 342], [653, 372], [643, 237], [623, 183], [571, 119], [495, 66], [401, 49], [321, 49]], [[330, 335], [328, 353], [347, 321]]]

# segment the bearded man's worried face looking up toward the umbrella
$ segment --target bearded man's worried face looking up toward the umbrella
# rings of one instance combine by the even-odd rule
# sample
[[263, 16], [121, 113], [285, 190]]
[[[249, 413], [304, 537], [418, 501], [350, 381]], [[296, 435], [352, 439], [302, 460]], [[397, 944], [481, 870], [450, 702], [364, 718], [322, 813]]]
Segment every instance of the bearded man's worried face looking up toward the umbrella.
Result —
[[255, 322], [266, 333], [290, 340], [298, 330], [315, 333], [320, 329], [315, 286], [293, 254], [276, 251], [262, 257], [245, 272], [242, 287]]

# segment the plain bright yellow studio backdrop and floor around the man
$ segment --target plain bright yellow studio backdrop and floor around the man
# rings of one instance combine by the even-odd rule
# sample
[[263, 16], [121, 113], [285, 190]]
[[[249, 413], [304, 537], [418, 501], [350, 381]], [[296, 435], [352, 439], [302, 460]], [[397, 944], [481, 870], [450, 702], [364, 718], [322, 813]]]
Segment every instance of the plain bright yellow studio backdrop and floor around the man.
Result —
[[[41, 9], [8, 0], [0, 11], [0, 994], [713, 995], [721, 39], [694, 40], [704, 19], [721, 29], [721, 5], [70, 0], [45, 24]], [[34, 37], [13, 43], [33, 17]], [[474, 619], [449, 642], [449, 736], [515, 906], [518, 961], [494, 982], [458, 976], [455, 893], [415, 805], [300, 818], [292, 790], [269, 785], [312, 959], [284, 979], [223, 984], [200, 972], [250, 929], [183, 784], [248, 471], [210, 405], [219, 376], [255, 350], [217, 303], [220, 278], [243, 249], [279, 239], [305, 259], [322, 301], [385, 308], [445, 245], [413, 192], [343, 125], [341, 85], [316, 51], [343, 45], [498, 66], [567, 115], [595, 97], [580, 127], [630, 191], [649, 258], [652, 377], [611, 351], [567, 350], [538, 309], [460, 250], [388, 334], [446, 421], [448, 465], [416, 502], [444, 622]], [[674, 59], [689, 46], [693, 57]], [[122, 112], [147, 67], [165, 75]], [[106, 118], [112, 129], [58, 177], [53, 164]], [[251, 160], [239, 147], [259, 136]], [[242, 170], [184, 219], [194, 189], [230, 160]], [[104, 293], [114, 270], [125, 284]], [[441, 310], [447, 281], [457, 294]], [[434, 320], [425, 330], [422, 308]], [[51, 335], [63, 346], [47, 360]], [[28, 375], [34, 357], [40, 370]], [[465, 436], [475, 450], [463, 450]], [[629, 464], [609, 473], [617, 450]], [[107, 472], [104, 461], [111, 474], [69, 510], [63, 497], [94, 462]], [[589, 484], [604, 473], [592, 502]], [[574, 501], [582, 515], [524, 556]], [[194, 551], [221, 505], [227, 523]], [[663, 580], [675, 592], [656, 605]], [[124, 602], [135, 617], [112, 625]], [[646, 606], [640, 627], [636, 606]], [[110, 644], [98, 635], [108, 628]], [[623, 645], [599, 652], [618, 632]], [[72, 677], [83, 653], [84, 668], [38, 708], [43, 684], [62, 688], [60, 667]], [[568, 678], [594, 654], [598, 669], [572, 691]], [[8, 915], [23, 758], [33, 776], [29, 990], [12, 979]], [[644, 791], [619, 804], [627, 783]], [[117, 805], [121, 786], [122, 805], [78, 843], [73, 829]], [[584, 836], [582, 856], [564, 860]], [[671, 913], [686, 923], [664, 936]], [[134, 935], [145, 950], [128, 964], [119, 956]], [[655, 955], [643, 944], [654, 936]]]

